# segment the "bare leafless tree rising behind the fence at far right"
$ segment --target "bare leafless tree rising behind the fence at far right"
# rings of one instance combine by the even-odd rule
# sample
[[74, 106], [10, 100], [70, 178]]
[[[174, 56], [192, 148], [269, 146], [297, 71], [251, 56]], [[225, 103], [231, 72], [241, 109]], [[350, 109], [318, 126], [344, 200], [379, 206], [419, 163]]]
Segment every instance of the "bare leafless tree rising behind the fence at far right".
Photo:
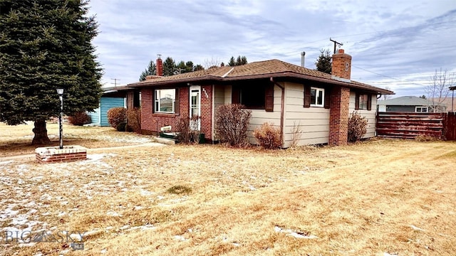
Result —
[[425, 94], [430, 102], [432, 112], [445, 112], [443, 102], [447, 99], [450, 92], [449, 87], [455, 85], [455, 73], [447, 73], [447, 70], [435, 70], [430, 77], [431, 83], [425, 87]]

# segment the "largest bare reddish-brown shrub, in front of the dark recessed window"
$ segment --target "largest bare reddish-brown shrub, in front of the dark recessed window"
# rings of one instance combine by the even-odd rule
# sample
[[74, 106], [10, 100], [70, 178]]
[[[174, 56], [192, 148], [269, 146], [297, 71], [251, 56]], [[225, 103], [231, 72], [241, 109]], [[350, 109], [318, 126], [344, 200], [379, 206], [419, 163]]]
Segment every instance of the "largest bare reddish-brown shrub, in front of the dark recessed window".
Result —
[[217, 107], [215, 112], [215, 134], [222, 143], [230, 146], [247, 145], [252, 111], [246, 110], [243, 105], [229, 104]]

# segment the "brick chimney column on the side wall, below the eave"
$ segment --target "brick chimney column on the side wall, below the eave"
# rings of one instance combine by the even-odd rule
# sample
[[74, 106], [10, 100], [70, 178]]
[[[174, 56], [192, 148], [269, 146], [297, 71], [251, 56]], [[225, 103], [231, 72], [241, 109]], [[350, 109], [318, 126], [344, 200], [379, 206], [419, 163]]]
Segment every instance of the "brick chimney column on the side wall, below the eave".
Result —
[[329, 111], [329, 142], [333, 146], [347, 144], [348, 137], [348, 105], [350, 89], [333, 87], [331, 90], [331, 109]]

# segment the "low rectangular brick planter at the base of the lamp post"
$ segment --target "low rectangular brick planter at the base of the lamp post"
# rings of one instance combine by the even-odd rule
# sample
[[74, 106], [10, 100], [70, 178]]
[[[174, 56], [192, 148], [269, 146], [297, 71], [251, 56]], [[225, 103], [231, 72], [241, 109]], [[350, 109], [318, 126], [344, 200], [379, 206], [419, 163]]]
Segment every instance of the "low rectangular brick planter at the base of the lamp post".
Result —
[[83, 146], [39, 147], [35, 149], [36, 161], [41, 164], [63, 161], [80, 161], [87, 159], [87, 149]]

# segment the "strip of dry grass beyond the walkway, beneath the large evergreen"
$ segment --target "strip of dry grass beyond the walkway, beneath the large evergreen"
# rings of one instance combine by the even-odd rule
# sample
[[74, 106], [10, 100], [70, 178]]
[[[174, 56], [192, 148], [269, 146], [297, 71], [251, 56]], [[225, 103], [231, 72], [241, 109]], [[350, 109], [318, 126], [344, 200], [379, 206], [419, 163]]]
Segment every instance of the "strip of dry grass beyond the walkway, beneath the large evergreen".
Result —
[[[0, 157], [34, 154], [37, 145], [32, 145], [33, 122], [16, 126], [0, 124]], [[48, 123], [48, 137], [51, 144], [58, 146], [58, 124]], [[130, 132], [117, 132], [112, 127], [63, 126], [63, 144], [81, 145], [88, 149], [125, 146], [152, 142], [152, 137]]]

